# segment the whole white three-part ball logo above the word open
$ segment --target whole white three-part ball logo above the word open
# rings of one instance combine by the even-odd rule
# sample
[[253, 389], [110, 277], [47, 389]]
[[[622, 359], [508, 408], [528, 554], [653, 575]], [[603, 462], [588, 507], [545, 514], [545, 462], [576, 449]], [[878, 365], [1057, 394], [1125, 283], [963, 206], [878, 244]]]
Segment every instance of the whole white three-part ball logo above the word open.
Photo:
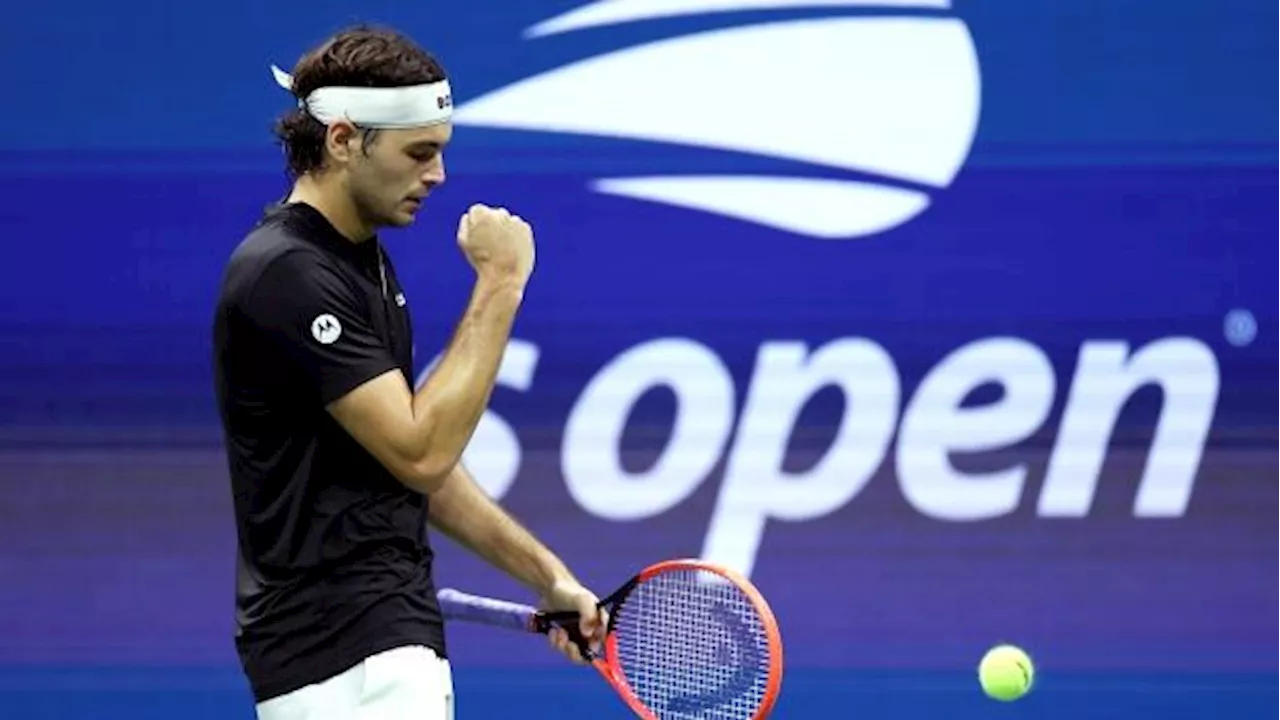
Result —
[[[844, 14], [733, 24], [730, 10]], [[751, 174], [600, 177], [607, 195], [808, 237], [881, 233], [923, 213], [973, 145], [980, 78], [948, 0], [607, 0], [535, 24], [527, 38], [654, 18], [709, 15], [718, 29], [621, 47], [463, 102], [461, 126], [617, 137], [778, 160]], [[910, 13], [910, 14], [906, 14]], [[780, 105], [778, 96], [787, 102]], [[591, 99], [584, 102], [582, 99]], [[653, 97], [664, 97], [660, 104]]]

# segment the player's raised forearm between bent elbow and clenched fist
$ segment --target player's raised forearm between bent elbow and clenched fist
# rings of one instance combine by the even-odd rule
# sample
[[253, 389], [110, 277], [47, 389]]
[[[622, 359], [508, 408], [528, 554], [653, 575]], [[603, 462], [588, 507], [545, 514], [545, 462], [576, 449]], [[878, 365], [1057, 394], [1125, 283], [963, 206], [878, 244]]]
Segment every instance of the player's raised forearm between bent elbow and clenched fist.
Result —
[[457, 465], [493, 395], [521, 287], [479, 282], [439, 364], [413, 393], [413, 424], [426, 475]]

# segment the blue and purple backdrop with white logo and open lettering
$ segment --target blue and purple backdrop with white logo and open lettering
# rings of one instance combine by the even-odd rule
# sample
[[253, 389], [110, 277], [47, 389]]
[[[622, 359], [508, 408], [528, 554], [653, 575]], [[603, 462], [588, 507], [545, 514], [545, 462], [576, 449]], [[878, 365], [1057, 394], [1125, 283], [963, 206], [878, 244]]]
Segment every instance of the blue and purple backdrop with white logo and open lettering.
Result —
[[[287, 191], [269, 65], [355, 20], [460, 105], [388, 234], [421, 369], [458, 215], [535, 225], [467, 462], [585, 579], [749, 571], [778, 717], [1280, 716], [1280, 5], [667, 5], [8, 13], [5, 716], [251, 716], [211, 306]], [[436, 544], [443, 584], [515, 592]], [[460, 717], [623, 716], [536, 641], [451, 637]], [[1010, 706], [997, 642], [1041, 671]]]

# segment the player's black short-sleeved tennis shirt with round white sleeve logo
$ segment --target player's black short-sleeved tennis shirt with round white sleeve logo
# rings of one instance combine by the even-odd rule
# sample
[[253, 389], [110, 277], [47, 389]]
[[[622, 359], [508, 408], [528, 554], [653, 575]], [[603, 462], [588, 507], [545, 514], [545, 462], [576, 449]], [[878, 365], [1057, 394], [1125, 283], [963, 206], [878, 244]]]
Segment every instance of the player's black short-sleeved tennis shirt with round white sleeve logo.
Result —
[[378, 240], [351, 242], [308, 205], [268, 210], [230, 256], [212, 336], [256, 701], [393, 647], [445, 657], [428, 498], [325, 411], [388, 370], [412, 387], [408, 305]]

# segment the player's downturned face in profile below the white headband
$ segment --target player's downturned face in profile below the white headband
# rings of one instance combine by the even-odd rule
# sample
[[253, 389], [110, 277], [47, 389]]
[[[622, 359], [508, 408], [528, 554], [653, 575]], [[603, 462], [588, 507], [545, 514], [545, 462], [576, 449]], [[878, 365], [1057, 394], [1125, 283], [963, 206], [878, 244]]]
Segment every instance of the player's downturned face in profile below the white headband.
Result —
[[356, 209], [371, 227], [404, 227], [431, 190], [444, 182], [444, 146], [452, 124], [360, 135], [347, 165]]

